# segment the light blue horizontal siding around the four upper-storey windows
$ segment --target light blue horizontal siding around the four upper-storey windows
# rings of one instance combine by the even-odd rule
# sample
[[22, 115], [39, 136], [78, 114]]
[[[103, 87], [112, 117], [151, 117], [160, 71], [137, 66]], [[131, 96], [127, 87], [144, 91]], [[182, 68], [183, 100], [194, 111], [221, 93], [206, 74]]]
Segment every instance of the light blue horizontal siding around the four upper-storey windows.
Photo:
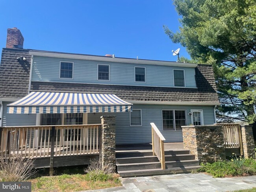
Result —
[[[74, 62], [73, 79], [59, 78], [59, 62]], [[110, 81], [98, 81], [97, 65], [110, 65]], [[146, 83], [135, 82], [134, 67], [146, 67]], [[173, 87], [173, 69], [185, 70], [186, 87], [195, 88], [195, 68], [160, 65], [136, 65], [129, 63], [110, 63], [80, 59], [60, 59], [34, 56], [32, 81], [97, 83], [111, 85], [140, 85], [154, 87]]]

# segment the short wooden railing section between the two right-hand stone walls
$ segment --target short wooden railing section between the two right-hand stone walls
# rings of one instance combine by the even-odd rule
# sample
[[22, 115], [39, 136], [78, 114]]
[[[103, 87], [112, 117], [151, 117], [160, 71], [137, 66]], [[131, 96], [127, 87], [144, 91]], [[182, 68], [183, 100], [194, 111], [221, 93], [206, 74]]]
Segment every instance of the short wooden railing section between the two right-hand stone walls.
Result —
[[215, 124], [223, 126], [224, 147], [225, 148], [240, 148], [240, 153], [243, 155], [241, 127], [239, 123], [230, 124]]

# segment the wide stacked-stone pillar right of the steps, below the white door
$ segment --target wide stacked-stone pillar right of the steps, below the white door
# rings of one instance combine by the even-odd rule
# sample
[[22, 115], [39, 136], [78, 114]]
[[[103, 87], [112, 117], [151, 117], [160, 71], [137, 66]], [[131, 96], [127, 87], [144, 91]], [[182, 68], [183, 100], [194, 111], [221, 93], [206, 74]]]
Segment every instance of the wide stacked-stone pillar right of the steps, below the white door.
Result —
[[182, 126], [184, 149], [200, 162], [226, 159], [222, 126]]

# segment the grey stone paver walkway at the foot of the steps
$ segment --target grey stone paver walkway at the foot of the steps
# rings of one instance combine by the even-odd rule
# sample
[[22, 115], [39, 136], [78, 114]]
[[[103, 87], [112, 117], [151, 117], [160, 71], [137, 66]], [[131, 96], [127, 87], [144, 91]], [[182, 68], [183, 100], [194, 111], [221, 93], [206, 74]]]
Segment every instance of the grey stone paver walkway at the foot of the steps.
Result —
[[[98, 192], [222, 192], [256, 187], [256, 175], [213, 178], [206, 174], [176, 174], [121, 178], [123, 186]], [[88, 191], [87, 191], [88, 192]]]

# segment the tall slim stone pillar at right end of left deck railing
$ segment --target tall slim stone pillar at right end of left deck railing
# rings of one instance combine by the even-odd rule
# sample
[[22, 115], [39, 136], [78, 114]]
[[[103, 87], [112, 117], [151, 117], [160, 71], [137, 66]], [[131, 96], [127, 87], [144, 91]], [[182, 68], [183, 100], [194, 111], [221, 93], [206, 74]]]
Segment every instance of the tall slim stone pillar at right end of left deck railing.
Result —
[[115, 115], [103, 115], [102, 124], [102, 165], [115, 170]]

